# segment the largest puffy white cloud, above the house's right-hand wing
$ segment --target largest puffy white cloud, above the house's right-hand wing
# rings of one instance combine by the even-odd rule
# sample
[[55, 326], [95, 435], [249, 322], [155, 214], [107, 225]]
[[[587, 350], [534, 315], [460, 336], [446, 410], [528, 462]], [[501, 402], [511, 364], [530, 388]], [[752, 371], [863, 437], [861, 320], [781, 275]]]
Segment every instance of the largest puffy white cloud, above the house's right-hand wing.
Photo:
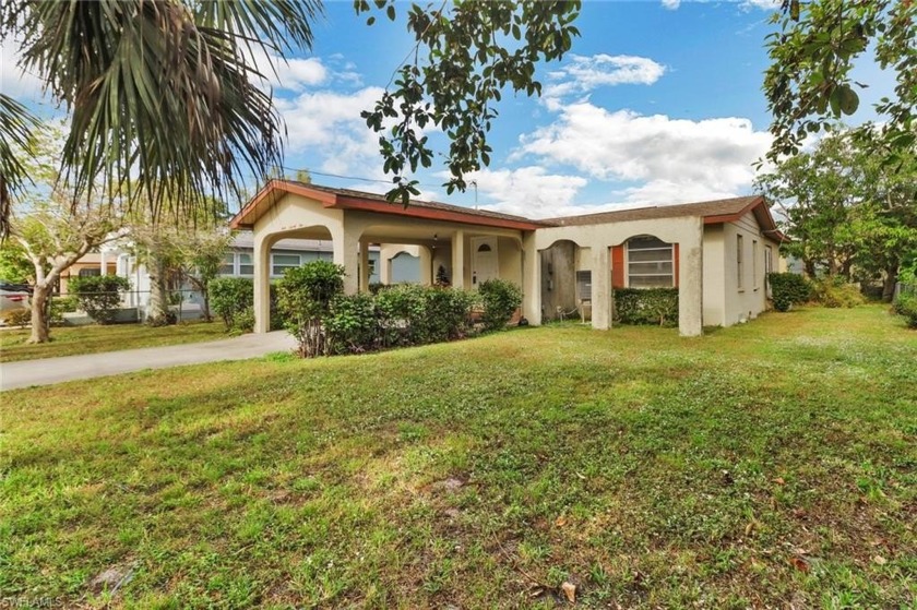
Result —
[[770, 144], [770, 134], [748, 119], [671, 119], [580, 101], [563, 107], [553, 124], [522, 136], [511, 158], [533, 155], [595, 179], [640, 182], [615, 195], [666, 204], [746, 191], [754, 177], [751, 164]]

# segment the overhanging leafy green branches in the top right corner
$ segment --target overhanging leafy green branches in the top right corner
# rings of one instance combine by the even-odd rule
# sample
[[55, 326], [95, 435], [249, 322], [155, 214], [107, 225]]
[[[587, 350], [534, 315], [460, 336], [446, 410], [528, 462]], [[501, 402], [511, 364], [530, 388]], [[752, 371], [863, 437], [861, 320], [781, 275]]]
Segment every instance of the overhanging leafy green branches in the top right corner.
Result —
[[[797, 153], [808, 133], [859, 107], [854, 63], [868, 53], [895, 75], [893, 96], [877, 105], [881, 137], [873, 146], [889, 160], [917, 142], [917, 2], [913, 0], [784, 0], [767, 37], [772, 60], [764, 93], [774, 116], [771, 160]], [[870, 128], [868, 128], [870, 129]]]

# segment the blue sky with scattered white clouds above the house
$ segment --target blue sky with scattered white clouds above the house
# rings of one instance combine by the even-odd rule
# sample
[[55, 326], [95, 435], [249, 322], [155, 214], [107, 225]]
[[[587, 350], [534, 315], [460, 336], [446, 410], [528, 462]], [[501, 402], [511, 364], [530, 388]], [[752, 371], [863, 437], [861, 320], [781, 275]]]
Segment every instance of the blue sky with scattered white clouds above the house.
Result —
[[[473, 177], [477, 203], [550, 217], [751, 192], [751, 164], [771, 141], [761, 83], [772, 14], [772, 0], [586, 0], [572, 52], [539, 67], [543, 97], [508, 95], [499, 106], [491, 165]], [[377, 136], [359, 113], [412, 40], [403, 22], [367, 26], [350, 1], [327, 2], [314, 29], [312, 51], [272, 79], [289, 131], [285, 166], [310, 169], [317, 183], [384, 192]], [[9, 46], [0, 50], [4, 92], [34, 99], [37, 82], [15, 71]], [[851, 122], [873, 118], [869, 101], [890, 87], [871, 64], [858, 75], [879, 86]], [[474, 189], [445, 195], [442, 171], [417, 176], [424, 198], [474, 205]]]

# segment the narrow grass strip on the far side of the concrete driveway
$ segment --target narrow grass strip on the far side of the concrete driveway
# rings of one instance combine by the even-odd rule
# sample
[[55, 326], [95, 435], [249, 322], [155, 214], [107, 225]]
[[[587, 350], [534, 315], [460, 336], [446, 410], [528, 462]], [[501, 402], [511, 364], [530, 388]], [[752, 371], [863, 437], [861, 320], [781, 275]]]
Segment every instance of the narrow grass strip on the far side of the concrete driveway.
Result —
[[0, 331], [0, 362], [100, 354], [138, 347], [158, 347], [226, 338], [223, 324], [192, 322], [152, 327], [145, 324], [64, 326], [51, 328], [51, 342], [29, 345], [29, 331]]

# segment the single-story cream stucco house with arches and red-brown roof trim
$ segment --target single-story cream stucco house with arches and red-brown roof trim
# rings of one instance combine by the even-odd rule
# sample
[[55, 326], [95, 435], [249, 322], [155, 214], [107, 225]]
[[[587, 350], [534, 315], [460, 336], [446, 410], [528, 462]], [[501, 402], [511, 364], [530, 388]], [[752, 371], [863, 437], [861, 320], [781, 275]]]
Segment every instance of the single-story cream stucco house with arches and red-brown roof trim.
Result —
[[593, 327], [608, 328], [615, 288], [677, 287], [687, 336], [764, 311], [765, 276], [786, 239], [762, 196], [535, 220], [290, 180], [270, 181], [230, 226], [252, 232], [255, 332], [270, 327], [272, 249], [286, 239], [330, 243], [348, 294], [369, 288], [372, 251], [383, 283], [405, 251], [419, 258], [425, 284], [440, 266], [457, 288], [508, 279], [522, 287], [531, 324], [588, 304]]

